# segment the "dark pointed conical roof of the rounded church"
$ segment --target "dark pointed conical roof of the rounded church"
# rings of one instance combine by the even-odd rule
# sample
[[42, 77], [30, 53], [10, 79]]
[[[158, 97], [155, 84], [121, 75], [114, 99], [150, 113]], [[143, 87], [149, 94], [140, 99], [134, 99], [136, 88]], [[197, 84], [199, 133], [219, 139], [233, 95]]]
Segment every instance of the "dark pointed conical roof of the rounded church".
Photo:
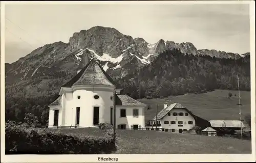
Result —
[[72, 87], [74, 85], [109, 85], [116, 88], [120, 87], [94, 59], [62, 87]]

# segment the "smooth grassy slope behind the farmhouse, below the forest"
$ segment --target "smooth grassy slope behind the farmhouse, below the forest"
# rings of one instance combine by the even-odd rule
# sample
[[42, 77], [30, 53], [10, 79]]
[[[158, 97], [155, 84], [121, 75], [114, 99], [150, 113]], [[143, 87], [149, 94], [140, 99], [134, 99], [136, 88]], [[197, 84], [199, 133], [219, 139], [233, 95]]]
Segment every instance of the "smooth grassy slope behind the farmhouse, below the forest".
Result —
[[[228, 93], [232, 97], [228, 98]], [[235, 96], [236, 95], [236, 96]], [[241, 91], [242, 116], [250, 114], [250, 92]], [[139, 99], [139, 101], [150, 105], [150, 110], [145, 110], [145, 122], [156, 116], [156, 104], [158, 112], [164, 107], [166, 99], [168, 103], [179, 102], [195, 115], [206, 120], [239, 120], [238, 91], [215, 90], [202, 94], [185, 94], [180, 96], [169, 96], [168, 98]], [[245, 122], [244, 122], [245, 123]], [[245, 124], [246, 125], [246, 124]]]

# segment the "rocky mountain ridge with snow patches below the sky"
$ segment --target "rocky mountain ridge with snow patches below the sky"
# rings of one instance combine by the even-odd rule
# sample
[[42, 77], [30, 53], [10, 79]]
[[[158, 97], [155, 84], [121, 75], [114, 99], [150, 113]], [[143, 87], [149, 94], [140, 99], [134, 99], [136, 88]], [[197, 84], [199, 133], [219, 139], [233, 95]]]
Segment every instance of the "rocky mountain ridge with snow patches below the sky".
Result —
[[76, 74], [76, 69], [85, 56], [95, 58], [114, 79], [120, 79], [152, 64], [160, 53], [172, 49], [180, 50], [183, 55], [192, 53], [199, 57], [210, 56], [235, 60], [250, 55], [245, 53], [241, 57], [236, 53], [198, 50], [190, 42], [175, 43], [160, 39], [151, 44], [143, 38], [124, 35], [114, 28], [94, 26], [89, 30], [74, 33], [68, 43], [58, 41], [46, 44], [34, 49], [16, 62], [6, 63], [6, 86], [14, 90], [16, 88], [13, 87], [17, 86], [20, 91], [23, 88], [27, 93], [44, 89], [51, 92], [53, 85], [51, 80], [57, 79], [58, 82], [54, 85], [66, 82]]

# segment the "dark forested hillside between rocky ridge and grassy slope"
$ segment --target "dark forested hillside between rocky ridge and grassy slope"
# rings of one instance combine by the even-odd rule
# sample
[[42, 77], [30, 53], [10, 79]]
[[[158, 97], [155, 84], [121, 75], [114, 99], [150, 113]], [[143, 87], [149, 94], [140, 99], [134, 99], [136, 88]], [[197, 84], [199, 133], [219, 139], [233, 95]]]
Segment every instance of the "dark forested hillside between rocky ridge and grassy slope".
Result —
[[178, 49], [161, 53], [155, 61], [120, 80], [134, 98], [157, 98], [215, 89], [250, 90], [250, 56], [234, 59], [184, 55]]

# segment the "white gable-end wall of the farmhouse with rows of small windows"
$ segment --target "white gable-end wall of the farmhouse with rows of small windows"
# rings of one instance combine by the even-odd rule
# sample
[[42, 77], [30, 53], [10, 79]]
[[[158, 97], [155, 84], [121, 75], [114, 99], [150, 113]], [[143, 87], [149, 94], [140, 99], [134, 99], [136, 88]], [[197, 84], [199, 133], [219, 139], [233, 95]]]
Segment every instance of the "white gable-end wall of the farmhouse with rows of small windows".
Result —
[[[178, 113], [178, 116], [173, 116], [173, 113], [176, 112]], [[184, 115], [183, 116], [179, 116], [179, 113], [183, 113]], [[161, 127], [159, 128], [166, 128], [166, 129], [191, 129], [195, 126], [196, 124], [196, 121], [194, 119], [193, 116], [191, 116], [189, 113], [188, 113], [188, 116], [185, 116], [185, 113], [186, 110], [182, 109], [182, 108], [173, 108], [171, 111], [170, 111], [170, 116], [168, 116], [166, 114], [166, 116], [160, 120], [160, 123], [161, 123]], [[169, 124], [164, 124], [164, 121], [168, 121]], [[171, 124], [170, 121], [175, 121], [176, 123], [175, 124]], [[183, 121], [183, 126], [180, 127], [178, 126], [178, 121]], [[188, 121], [193, 121], [193, 124], [188, 124]], [[154, 121], [151, 121], [151, 123], [154, 123]]]

